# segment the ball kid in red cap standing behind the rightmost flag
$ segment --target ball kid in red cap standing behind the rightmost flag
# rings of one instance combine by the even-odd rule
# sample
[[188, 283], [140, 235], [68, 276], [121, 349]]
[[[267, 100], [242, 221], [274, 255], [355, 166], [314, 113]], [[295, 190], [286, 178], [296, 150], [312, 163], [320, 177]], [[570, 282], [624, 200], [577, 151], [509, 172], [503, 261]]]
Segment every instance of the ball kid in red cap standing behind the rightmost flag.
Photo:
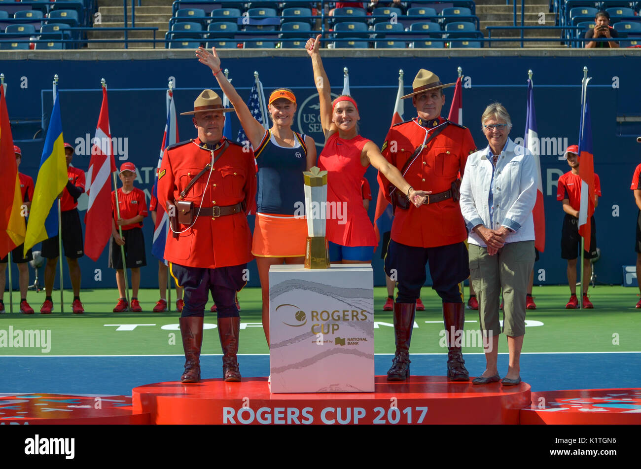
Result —
[[[579, 208], [581, 207], [581, 177], [579, 176], [578, 145], [570, 145], [565, 151], [567, 164], [572, 170], [559, 177], [556, 188], [556, 200], [562, 202], [565, 218], [561, 230], [561, 258], [567, 259], [567, 281], [570, 286], [570, 300], [565, 305], [567, 309], [579, 308], [576, 298], [576, 259], [581, 249], [581, 235], [579, 234]], [[599, 176], [594, 173], [594, 208], [599, 204], [601, 197], [601, 183]], [[592, 263], [590, 259], [597, 257], [597, 227], [594, 215], [590, 218], [590, 244], [585, 245], [583, 251], [583, 308], [594, 308], [588, 300], [588, 286], [592, 276]]]

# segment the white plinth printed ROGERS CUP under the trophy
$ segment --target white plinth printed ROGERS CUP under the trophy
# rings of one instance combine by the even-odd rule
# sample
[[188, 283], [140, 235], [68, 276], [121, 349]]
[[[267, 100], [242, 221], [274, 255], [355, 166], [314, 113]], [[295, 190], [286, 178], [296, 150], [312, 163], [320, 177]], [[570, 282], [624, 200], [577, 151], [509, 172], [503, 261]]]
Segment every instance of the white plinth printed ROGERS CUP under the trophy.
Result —
[[269, 270], [272, 393], [374, 391], [369, 264]]

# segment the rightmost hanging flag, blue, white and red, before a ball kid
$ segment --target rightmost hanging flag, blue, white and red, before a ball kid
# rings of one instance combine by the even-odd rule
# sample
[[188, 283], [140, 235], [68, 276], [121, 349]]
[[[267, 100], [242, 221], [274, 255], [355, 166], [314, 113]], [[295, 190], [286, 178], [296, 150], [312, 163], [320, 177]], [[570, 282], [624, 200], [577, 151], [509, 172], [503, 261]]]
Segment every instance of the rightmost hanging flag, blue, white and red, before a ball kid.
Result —
[[[586, 70], [587, 72], [587, 70]], [[581, 177], [581, 206], [579, 208], [579, 234], [587, 240], [585, 251], [590, 251], [590, 218], [594, 214], [594, 154], [592, 154], [592, 126], [588, 104], [588, 82], [583, 77], [581, 86], [581, 120], [579, 124], [579, 177]]]

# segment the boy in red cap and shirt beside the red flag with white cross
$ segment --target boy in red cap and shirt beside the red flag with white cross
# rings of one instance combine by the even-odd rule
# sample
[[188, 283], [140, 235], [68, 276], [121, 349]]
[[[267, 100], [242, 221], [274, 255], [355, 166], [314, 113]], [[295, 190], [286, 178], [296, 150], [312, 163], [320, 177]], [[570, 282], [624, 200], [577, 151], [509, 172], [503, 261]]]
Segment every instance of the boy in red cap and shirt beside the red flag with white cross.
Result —
[[[116, 283], [120, 299], [114, 313], [126, 311], [129, 304], [125, 296], [127, 284], [124, 281], [121, 246], [124, 247], [125, 268], [131, 269], [131, 311], [140, 312], [138, 288], [140, 287], [140, 267], [147, 265], [145, 236], [142, 234], [142, 220], [147, 216], [145, 193], [133, 186], [136, 179], [136, 166], [131, 161], [122, 163], [120, 174], [122, 187], [118, 189], [118, 208], [116, 192], [112, 191], [112, 242], [109, 245], [109, 267], [116, 270]], [[122, 236], [118, 227], [122, 229]]]

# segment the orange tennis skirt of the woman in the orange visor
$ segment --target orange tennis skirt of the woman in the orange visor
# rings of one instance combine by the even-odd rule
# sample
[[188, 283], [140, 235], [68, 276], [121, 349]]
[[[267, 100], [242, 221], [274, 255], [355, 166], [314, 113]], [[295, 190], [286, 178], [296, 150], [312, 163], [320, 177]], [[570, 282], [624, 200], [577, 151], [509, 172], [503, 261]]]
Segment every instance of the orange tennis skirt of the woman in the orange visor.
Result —
[[256, 213], [251, 253], [262, 258], [302, 257], [306, 239], [306, 218]]

